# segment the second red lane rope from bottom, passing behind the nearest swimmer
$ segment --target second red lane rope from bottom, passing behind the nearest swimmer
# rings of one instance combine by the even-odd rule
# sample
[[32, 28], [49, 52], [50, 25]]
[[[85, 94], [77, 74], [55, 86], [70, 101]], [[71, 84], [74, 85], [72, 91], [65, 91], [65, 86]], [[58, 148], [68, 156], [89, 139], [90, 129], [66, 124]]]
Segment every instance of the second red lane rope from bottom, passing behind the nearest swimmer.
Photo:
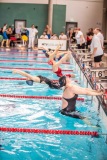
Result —
[[[62, 97], [55, 97], [55, 96], [26, 96], [26, 95], [14, 95], [14, 94], [0, 94], [0, 97], [62, 100]], [[85, 99], [80, 97], [80, 98], [77, 98], [77, 100], [83, 102]]]

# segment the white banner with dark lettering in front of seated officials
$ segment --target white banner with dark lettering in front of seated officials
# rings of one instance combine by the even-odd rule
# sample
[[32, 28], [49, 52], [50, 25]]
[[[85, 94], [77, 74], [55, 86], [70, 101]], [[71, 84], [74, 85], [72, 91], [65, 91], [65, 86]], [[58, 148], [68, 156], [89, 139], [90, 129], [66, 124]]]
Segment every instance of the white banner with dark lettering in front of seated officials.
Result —
[[44, 47], [47, 49], [55, 49], [58, 45], [61, 45], [60, 50], [66, 50], [66, 40], [51, 40], [51, 39], [38, 39], [38, 47]]

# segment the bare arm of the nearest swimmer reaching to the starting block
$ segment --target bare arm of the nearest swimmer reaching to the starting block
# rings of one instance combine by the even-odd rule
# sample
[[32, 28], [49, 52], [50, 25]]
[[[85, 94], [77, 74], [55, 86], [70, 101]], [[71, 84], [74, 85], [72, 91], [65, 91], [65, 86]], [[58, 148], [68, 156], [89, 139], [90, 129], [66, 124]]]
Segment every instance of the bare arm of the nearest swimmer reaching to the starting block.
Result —
[[92, 90], [89, 88], [81, 88], [78, 86], [71, 86], [72, 92], [75, 94], [89, 95], [89, 96], [100, 96], [103, 95], [103, 91]]

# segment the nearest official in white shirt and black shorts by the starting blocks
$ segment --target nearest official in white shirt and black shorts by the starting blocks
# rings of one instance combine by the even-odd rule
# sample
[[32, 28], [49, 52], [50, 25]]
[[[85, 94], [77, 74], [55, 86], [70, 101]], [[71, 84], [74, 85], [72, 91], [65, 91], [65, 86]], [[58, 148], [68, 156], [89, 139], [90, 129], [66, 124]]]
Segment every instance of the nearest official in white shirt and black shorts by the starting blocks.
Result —
[[93, 32], [94, 32], [94, 36], [92, 35], [92, 33], [89, 36], [90, 39], [92, 39], [90, 49], [91, 49], [92, 58], [94, 58], [94, 67], [98, 68], [101, 65], [103, 49], [101, 46], [100, 39], [95, 34], [95, 30]]

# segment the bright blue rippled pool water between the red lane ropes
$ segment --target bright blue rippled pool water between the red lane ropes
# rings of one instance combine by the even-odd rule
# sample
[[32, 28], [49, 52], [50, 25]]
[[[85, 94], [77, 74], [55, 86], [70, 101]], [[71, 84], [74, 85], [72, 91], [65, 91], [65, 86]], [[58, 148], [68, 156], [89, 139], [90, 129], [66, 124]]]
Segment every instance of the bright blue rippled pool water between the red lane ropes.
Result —
[[[7, 54], [1, 52], [1, 54]], [[12, 54], [8, 53], [5, 60], [14, 60]], [[17, 53], [19, 54], [19, 53]], [[13, 55], [14, 56], [14, 55]], [[18, 55], [17, 55], [18, 56]], [[0, 55], [0, 60], [2, 60]], [[25, 58], [29, 60], [29, 58]], [[22, 60], [15, 58], [15, 60]], [[36, 59], [39, 61], [38, 59]], [[41, 59], [47, 61], [47, 59]], [[27, 70], [27, 68], [51, 68], [48, 64], [29, 63], [1, 63], [0, 66], [23, 67], [32, 75], [43, 75], [51, 79], [58, 79], [51, 71]], [[73, 69], [76, 80], [80, 80], [79, 74], [75, 72], [74, 65], [61, 66], [63, 69]], [[65, 72], [69, 73], [69, 72]], [[0, 69], [0, 77], [17, 77], [10, 69]], [[72, 82], [76, 84], [74, 81]], [[61, 96], [62, 90], [50, 89], [45, 84], [26, 85], [25, 81], [0, 80], [0, 94], [15, 95], [39, 95], [39, 96]], [[78, 85], [78, 84], [76, 84]], [[83, 82], [80, 84], [85, 86]], [[79, 96], [81, 97], [81, 96]], [[59, 130], [90, 130], [102, 131], [103, 124], [95, 111], [96, 106], [91, 97], [82, 96], [84, 102], [77, 101], [77, 110], [87, 116], [93, 126], [85, 124], [82, 120], [66, 117], [60, 114], [60, 100], [43, 99], [19, 99], [0, 98], [0, 126], [16, 128], [38, 128]], [[99, 126], [99, 127], [94, 127]], [[103, 137], [70, 136], [70, 135], [43, 135], [28, 133], [4, 133], [0, 132], [0, 160], [107, 160], [107, 144]]]

